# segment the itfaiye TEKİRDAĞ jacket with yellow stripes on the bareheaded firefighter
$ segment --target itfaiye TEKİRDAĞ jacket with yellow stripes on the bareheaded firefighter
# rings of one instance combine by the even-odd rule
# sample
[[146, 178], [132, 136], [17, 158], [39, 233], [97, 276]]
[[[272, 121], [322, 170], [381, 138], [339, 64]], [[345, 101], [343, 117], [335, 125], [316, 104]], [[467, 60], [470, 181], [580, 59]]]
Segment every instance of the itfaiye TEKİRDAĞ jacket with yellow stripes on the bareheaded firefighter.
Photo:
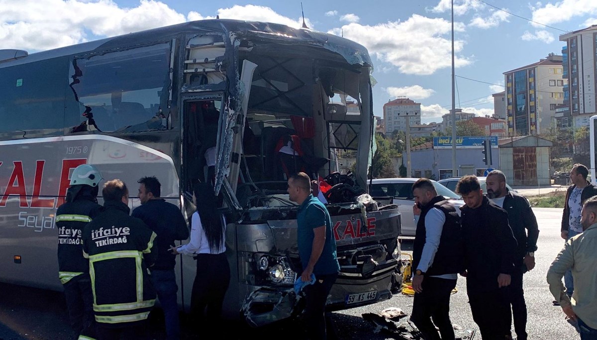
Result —
[[148, 268], [158, 255], [153, 250], [156, 234], [129, 212], [126, 204], [107, 201], [83, 231], [93, 310], [103, 327], [128, 327], [145, 320], [155, 302]]

